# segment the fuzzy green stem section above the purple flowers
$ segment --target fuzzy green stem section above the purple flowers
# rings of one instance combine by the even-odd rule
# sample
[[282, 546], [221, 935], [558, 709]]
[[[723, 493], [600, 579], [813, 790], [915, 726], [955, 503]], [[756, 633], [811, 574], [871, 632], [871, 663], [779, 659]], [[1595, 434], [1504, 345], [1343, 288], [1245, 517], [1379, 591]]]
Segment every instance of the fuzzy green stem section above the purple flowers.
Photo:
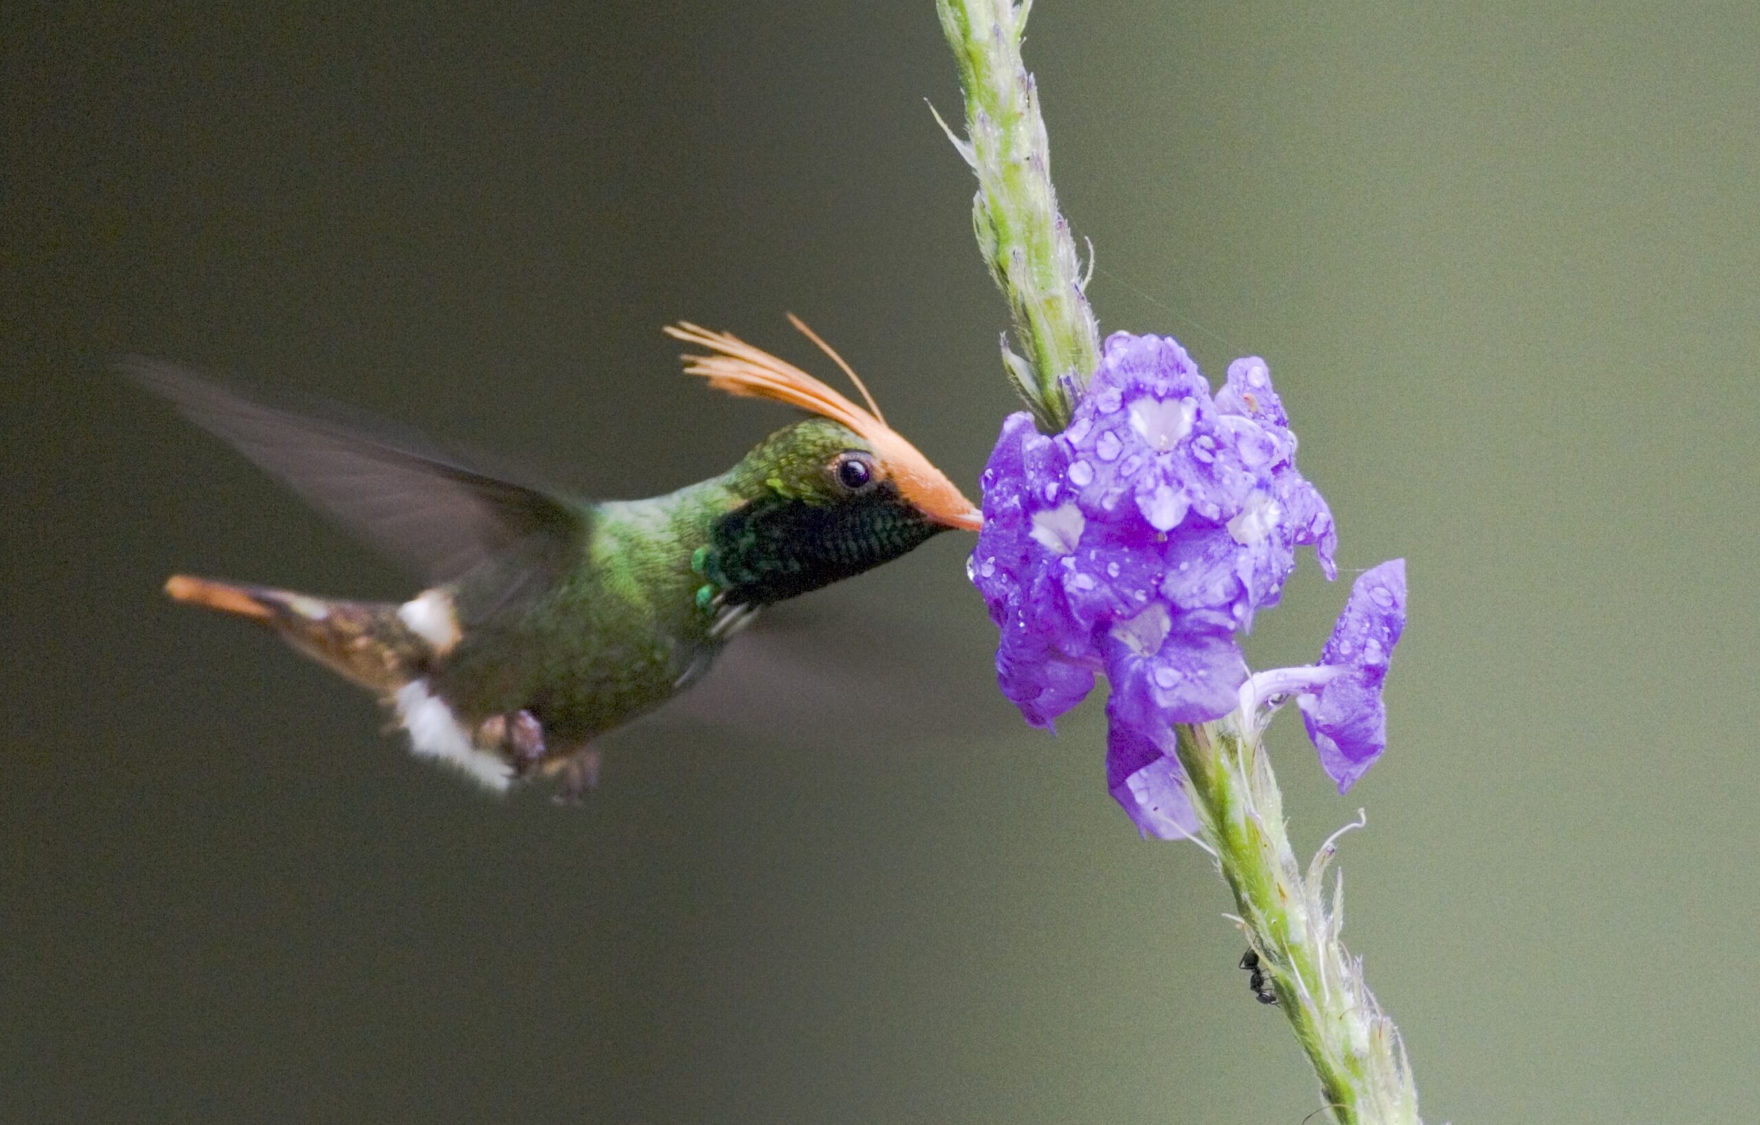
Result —
[[[972, 227], [1014, 312], [1017, 356], [1003, 370], [1045, 433], [1070, 421], [1074, 396], [1100, 361], [1100, 329], [1070, 224], [1051, 190], [1051, 146], [1033, 76], [1021, 63], [1031, 0], [936, 0], [959, 63], [968, 139], [949, 137], [979, 176]], [[943, 129], [945, 129], [943, 121]]]

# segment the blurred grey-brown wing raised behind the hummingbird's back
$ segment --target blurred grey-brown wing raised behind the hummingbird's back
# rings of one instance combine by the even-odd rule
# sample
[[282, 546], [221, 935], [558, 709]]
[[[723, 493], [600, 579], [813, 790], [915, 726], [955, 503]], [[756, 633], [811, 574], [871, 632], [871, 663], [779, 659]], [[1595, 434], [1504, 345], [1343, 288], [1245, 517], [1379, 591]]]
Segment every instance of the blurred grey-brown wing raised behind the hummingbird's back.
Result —
[[583, 509], [484, 475], [417, 437], [269, 407], [174, 364], [128, 359], [121, 371], [431, 583], [516, 544], [565, 546], [584, 530]]

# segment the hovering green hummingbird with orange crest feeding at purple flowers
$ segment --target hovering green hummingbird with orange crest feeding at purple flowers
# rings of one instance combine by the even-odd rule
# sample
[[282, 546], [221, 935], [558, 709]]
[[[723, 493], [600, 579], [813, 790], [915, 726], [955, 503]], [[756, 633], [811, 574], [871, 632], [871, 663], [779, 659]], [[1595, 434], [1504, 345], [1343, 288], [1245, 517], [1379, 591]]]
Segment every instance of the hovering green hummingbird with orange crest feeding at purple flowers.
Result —
[[248, 398], [180, 366], [123, 371], [428, 583], [403, 602], [315, 597], [174, 574], [178, 602], [268, 627], [375, 692], [417, 757], [491, 790], [597, 783], [595, 739], [702, 678], [766, 606], [899, 558], [979, 511], [866, 407], [730, 333], [665, 331], [685, 371], [797, 407], [727, 472], [646, 500], [588, 502]]

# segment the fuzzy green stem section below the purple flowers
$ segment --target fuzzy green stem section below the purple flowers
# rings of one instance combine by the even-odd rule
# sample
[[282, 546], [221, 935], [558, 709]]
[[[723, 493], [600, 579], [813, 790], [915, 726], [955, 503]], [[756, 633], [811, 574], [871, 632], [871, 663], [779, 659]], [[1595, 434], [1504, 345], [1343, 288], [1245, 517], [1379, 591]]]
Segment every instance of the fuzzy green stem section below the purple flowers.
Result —
[[1399, 1030], [1339, 942], [1343, 877], [1325, 896], [1334, 842], [1308, 871], [1283, 826], [1283, 798], [1253, 725], [1241, 715], [1176, 725], [1199, 840], [1234, 891], [1241, 928], [1320, 1079], [1339, 1125], [1419, 1125], [1419, 1099]]

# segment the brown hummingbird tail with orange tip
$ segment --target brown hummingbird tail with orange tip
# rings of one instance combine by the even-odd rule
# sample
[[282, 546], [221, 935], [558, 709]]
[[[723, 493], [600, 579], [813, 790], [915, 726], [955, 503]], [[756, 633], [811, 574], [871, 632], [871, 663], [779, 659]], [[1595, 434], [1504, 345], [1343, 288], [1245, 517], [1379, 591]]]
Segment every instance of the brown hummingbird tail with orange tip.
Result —
[[343, 602], [188, 574], [172, 574], [165, 593], [260, 621], [319, 664], [385, 695], [421, 676], [435, 655], [391, 602]]

